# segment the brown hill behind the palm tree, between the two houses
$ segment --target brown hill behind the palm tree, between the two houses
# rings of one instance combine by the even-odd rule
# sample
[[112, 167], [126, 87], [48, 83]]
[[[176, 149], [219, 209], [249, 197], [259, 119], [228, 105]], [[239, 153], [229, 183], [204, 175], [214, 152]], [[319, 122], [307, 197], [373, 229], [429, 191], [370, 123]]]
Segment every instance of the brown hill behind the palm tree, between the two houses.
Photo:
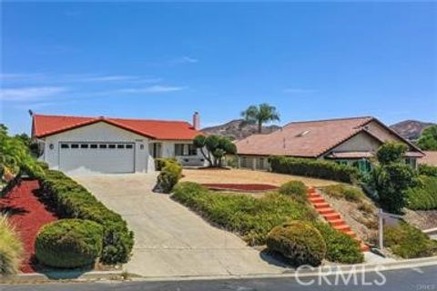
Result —
[[[244, 125], [243, 119], [234, 119], [223, 125], [211, 126], [203, 128], [201, 131], [208, 135], [227, 136], [231, 139], [243, 139], [249, 135], [258, 133], [258, 125]], [[262, 126], [262, 133], [269, 134], [278, 130], [280, 126], [269, 125]]]

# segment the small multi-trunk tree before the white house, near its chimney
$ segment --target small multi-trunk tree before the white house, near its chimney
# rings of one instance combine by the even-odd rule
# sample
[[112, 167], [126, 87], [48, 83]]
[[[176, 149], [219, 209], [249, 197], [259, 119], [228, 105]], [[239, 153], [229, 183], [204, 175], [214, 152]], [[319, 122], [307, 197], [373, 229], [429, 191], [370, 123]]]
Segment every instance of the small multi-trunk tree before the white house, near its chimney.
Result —
[[224, 156], [237, 153], [237, 147], [229, 138], [219, 135], [198, 135], [194, 138], [193, 145], [200, 149], [209, 166], [222, 166]]

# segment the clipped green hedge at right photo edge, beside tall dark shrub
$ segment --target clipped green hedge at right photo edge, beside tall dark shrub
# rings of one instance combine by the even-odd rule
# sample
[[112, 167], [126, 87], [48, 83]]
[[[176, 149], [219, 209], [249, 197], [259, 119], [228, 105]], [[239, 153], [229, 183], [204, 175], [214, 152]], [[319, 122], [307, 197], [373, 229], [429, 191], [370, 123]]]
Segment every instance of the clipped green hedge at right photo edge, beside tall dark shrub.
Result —
[[437, 177], [419, 176], [419, 183], [407, 190], [408, 208], [412, 210], [437, 209]]

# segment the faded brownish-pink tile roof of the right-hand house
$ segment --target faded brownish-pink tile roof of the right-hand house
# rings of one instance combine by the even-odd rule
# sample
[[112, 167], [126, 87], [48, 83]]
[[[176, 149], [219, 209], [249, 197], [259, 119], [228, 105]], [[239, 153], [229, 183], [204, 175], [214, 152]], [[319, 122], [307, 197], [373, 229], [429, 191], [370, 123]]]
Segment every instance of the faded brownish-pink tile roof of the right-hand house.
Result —
[[235, 145], [239, 155], [319, 157], [361, 132], [381, 139], [365, 128], [371, 121], [381, 124], [371, 116], [292, 122], [269, 135], [250, 135]]

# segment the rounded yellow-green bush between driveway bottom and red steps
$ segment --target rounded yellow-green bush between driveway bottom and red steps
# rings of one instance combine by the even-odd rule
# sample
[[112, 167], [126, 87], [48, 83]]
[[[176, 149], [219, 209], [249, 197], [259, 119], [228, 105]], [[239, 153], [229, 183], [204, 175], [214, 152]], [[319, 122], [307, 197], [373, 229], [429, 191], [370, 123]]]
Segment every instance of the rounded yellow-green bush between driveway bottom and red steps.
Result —
[[267, 236], [269, 250], [290, 260], [293, 266], [319, 266], [326, 256], [326, 244], [310, 223], [291, 221], [274, 227]]

